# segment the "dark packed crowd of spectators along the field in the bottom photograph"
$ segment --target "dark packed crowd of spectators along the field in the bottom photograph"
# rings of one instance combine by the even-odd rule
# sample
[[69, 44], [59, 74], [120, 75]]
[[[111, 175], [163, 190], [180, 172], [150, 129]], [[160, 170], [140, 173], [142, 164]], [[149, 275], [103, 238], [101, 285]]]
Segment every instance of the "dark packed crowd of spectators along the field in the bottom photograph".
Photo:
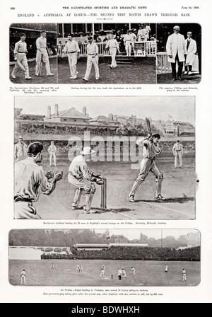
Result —
[[112, 246], [103, 250], [77, 250], [76, 254], [44, 253], [42, 259], [81, 260], [165, 260], [165, 261], [200, 261], [200, 247], [177, 250], [175, 248], [150, 248], [132, 246]]

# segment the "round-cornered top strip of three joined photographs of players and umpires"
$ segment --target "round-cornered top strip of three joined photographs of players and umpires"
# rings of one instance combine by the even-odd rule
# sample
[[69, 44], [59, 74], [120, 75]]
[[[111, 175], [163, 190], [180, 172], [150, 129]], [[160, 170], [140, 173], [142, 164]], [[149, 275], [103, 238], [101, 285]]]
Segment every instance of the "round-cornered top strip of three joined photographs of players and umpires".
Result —
[[197, 23], [16, 23], [10, 26], [13, 83], [196, 84]]

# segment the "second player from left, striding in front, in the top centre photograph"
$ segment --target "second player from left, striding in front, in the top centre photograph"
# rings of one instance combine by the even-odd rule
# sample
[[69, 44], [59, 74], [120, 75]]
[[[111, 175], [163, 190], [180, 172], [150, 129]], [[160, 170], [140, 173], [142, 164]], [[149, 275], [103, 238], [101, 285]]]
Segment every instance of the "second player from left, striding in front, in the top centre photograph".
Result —
[[88, 42], [87, 45], [87, 68], [86, 68], [86, 74], [83, 77], [83, 81], [88, 81], [88, 78], [90, 76], [90, 71], [92, 69], [92, 66], [95, 68], [95, 79], [100, 79], [100, 73], [99, 73], [99, 57], [98, 57], [98, 45], [96, 45], [93, 42], [92, 36], [88, 36]]

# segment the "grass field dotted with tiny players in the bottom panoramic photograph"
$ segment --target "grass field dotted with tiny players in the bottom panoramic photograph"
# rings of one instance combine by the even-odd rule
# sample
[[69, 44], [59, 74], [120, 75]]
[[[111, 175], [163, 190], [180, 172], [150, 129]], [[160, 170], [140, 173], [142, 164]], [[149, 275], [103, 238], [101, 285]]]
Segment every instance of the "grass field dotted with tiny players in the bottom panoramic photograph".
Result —
[[[51, 268], [54, 263], [55, 268]], [[76, 272], [76, 265], [83, 273]], [[100, 267], [106, 268], [100, 278]], [[165, 264], [168, 272], [165, 273]], [[131, 274], [134, 266], [136, 274]], [[124, 267], [126, 278], [118, 280], [118, 268]], [[182, 269], [187, 271], [187, 282], [182, 282]], [[135, 261], [135, 260], [9, 260], [9, 282], [20, 285], [20, 272], [25, 269], [28, 286], [196, 286], [200, 283], [200, 262]], [[113, 275], [113, 279], [111, 278]]]

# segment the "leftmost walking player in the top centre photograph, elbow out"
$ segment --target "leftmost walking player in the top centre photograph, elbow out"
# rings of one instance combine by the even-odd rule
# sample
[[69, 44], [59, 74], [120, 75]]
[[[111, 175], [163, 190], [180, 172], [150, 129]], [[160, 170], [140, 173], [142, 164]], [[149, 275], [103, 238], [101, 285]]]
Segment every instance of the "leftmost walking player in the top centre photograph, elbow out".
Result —
[[78, 71], [76, 71], [76, 64], [80, 49], [78, 47], [78, 42], [76, 42], [76, 40], [73, 40], [73, 35], [68, 35], [68, 38], [69, 40], [68, 42], [66, 42], [61, 57], [63, 58], [64, 54], [68, 54], [69, 67], [71, 73], [70, 79], [76, 79], [78, 74]]

